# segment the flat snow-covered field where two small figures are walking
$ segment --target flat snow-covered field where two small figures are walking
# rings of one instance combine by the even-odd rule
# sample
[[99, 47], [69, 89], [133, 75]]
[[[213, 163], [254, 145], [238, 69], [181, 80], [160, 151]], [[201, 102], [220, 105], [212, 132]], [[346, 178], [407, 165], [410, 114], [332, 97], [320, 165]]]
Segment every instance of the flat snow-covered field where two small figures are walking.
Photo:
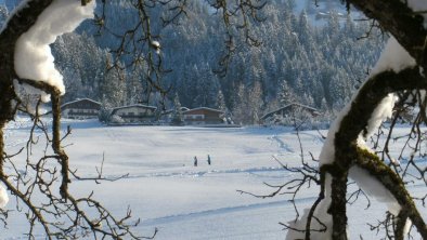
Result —
[[[23, 145], [27, 123], [21, 119], [9, 128], [11, 148]], [[286, 232], [279, 223], [295, 218], [284, 196], [260, 199], [237, 192], [270, 194], [273, 189], [263, 183], [282, 184], [293, 177], [273, 159], [300, 164], [299, 142], [290, 129], [104, 126], [96, 121], [65, 121], [64, 128], [67, 124], [73, 133], [66, 150], [80, 175], [95, 176], [103, 156], [104, 176], [129, 174], [101, 185], [74, 181], [73, 191], [82, 196], [93, 189], [94, 197], [118, 215], [129, 205], [132, 215], [141, 217], [135, 229], [140, 235], [150, 236], [158, 228], [156, 239], [284, 239]], [[308, 151], [319, 156], [320, 134], [305, 131], [300, 137], [306, 158], [310, 158]], [[308, 206], [316, 195], [316, 188], [305, 190], [296, 203]], [[349, 206], [351, 239], [359, 239], [361, 232], [364, 239], [376, 239], [365, 224], [366, 213], [375, 224], [386, 208], [372, 204], [362, 213], [366, 201]], [[23, 237], [24, 226], [13, 214], [10, 223], [9, 229], [1, 229], [0, 239]]]

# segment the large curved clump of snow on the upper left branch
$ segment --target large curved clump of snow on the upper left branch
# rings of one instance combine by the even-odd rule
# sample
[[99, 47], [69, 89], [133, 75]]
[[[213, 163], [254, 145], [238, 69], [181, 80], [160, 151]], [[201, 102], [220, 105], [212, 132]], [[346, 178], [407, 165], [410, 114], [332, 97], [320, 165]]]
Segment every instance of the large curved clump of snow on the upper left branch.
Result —
[[56, 37], [73, 31], [83, 19], [93, 17], [94, 6], [94, 0], [87, 6], [81, 6], [80, 1], [54, 0], [16, 42], [14, 56], [17, 76], [47, 82], [64, 94], [63, 77], [55, 69], [49, 44]]

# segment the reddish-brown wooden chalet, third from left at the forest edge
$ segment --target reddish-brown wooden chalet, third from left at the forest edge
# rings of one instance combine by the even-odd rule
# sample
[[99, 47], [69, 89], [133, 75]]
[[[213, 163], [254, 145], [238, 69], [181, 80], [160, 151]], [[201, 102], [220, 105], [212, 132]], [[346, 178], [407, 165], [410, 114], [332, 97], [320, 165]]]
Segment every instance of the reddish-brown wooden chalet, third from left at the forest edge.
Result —
[[189, 125], [223, 124], [224, 111], [208, 107], [198, 107], [182, 112], [184, 123]]

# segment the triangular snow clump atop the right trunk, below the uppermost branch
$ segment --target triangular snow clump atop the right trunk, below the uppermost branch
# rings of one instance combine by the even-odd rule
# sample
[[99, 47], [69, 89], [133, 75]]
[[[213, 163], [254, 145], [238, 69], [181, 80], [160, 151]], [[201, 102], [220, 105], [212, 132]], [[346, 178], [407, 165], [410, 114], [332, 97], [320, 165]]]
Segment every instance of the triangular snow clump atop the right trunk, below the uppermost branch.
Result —
[[375, 76], [386, 70], [399, 72], [404, 68], [415, 65], [415, 59], [407, 53], [407, 51], [403, 49], [393, 37], [390, 37], [381, 55], [379, 56], [378, 62], [372, 69], [371, 76]]

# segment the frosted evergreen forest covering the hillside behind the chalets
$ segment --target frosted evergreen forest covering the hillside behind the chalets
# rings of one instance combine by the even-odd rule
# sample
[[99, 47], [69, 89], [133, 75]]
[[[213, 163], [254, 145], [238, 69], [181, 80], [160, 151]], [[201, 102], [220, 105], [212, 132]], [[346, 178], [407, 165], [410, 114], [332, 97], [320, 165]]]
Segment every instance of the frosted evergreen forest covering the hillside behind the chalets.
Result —
[[[105, 24], [122, 32], [135, 16], [128, 1], [112, 4], [116, 5], [106, 9]], [[324, 24], [314, 25], [305, 10], [296, 11], [294, 0], [272, 0], [262, 10], [266, 21], [250, 26], [261, 46], [237, 39], [237, 51], [222, 77], [215, 71], [224, 51], [220, 16], [204, 1], [189, 0], [186, 8], [178, 25], [163, 28], [153, 22], [165, 69], [171, 70], [163, 76], [170, 89], [167, 107], [178, 95], [181, 106], [227, 109], [236, 122], [247, 124], [293, 102], [321, 109], [329, 118], [364, 80], [379, 55], [377, 45], [385, 40], [372, 32], [361, 38], [370, 29], [368, 22], [332, 11], [323, 16]], [[155, 19], [165, 13], [153, 9], [152, 14]], [[0, 24], [7, 15], [8, 9], [0, 6]], [[124, 59], [122, 70], [106, 71], [117, 43], [109, 32], [100, 35], [92, 22], [57, 39], [52, 51], [67, 86], [64, 102], [89, 97], [105, 108], [146, 101], [158, 104], [156, 94], [148, 97], [144, 69], [126, 68]]]

